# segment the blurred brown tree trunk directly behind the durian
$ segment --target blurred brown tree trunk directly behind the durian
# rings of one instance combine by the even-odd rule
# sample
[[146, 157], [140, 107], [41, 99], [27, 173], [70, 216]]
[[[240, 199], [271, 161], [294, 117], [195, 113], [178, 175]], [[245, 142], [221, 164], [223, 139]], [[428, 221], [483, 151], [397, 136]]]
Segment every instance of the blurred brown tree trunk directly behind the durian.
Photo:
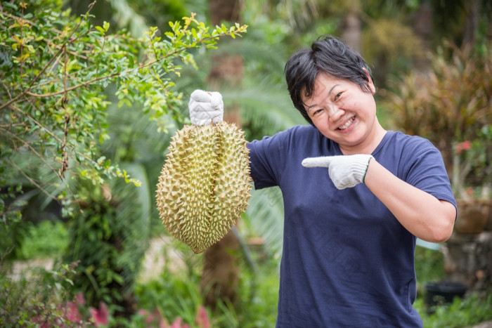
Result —
[[[210, 0], [212, 25], [222, 21], [239, 22], [240, 2], [238, 0]], [[243, 63], [240, 55], [227, 55], [221, 52], [212, 58], [209, 89], [220, 91], [221, 85], [239, 87], [243, 76]], [[224, 110], [224, 121], [240, 126], [237, 105]], [[240, 250], [238, 238], [232, 231], [216, 244], [205, 250], [200, 289], [205, 295], [205, 304], [214, 308], [218, 301], [235, 302], [239, 282], [237, 254]]]

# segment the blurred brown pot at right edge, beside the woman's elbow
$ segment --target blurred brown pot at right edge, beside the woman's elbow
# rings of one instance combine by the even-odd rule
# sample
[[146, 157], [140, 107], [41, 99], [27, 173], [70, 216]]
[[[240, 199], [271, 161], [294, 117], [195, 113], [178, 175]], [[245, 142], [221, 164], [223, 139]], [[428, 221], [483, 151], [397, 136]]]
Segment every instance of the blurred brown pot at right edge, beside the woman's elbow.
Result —
[[456, 199], [456, 203], [458, 218], [455, 222], [455, 232], [478, 234], [484, 231], [491, 202], [488, 199]]

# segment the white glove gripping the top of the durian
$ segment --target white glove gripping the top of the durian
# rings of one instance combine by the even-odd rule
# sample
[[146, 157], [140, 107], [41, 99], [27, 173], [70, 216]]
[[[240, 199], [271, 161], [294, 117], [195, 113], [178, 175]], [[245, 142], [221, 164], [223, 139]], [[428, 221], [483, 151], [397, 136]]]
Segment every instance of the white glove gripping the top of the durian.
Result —
[[188, 109], [193, 125], [216, 124], [222, 122], [224, 117], [224, 102], [219, 92], [193, 91]]

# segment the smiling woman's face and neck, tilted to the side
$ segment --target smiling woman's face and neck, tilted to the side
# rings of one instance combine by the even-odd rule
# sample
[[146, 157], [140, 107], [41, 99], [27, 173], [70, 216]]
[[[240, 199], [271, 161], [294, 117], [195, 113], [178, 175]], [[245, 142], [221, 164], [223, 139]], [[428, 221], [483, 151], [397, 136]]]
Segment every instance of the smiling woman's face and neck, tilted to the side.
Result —
[[323, 136], [338, 143], [345, 155], [372, 152], [384, 135], [377, 122], [375, 87], [371, 80], [368, 86], [371, 93], [362, 91], [351, 81], [319, 74], [313, 96], [303, 99], [314, 126]]

